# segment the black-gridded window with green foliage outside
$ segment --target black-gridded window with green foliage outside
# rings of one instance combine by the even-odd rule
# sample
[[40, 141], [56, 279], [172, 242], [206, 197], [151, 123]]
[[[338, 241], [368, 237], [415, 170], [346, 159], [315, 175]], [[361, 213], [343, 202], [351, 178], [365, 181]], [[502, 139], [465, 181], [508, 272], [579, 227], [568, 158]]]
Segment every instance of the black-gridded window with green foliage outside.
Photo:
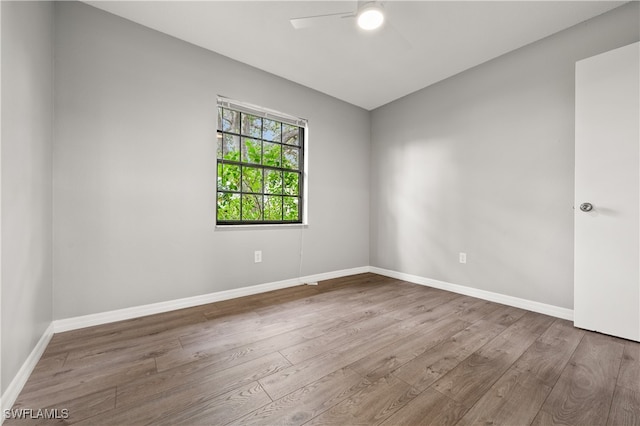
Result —
[[302, 223], [305, 127], [218, 99], [217, 224]]

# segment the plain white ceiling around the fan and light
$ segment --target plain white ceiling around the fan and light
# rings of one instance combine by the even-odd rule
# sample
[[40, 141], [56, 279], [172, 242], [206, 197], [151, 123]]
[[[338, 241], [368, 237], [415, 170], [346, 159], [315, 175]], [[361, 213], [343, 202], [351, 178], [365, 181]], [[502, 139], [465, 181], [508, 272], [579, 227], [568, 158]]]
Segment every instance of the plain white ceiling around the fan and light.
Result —
[[385, 26], [289, 18], [356, 1], [87, 1], [367, 110], [618, 7], [621, 1], [386, 1]]

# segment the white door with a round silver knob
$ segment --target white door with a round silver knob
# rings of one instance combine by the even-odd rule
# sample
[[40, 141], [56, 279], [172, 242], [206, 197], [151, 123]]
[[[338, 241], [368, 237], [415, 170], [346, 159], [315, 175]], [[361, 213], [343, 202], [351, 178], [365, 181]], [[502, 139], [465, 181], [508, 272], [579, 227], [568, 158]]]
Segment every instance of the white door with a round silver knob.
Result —
[[[576, 63], [574, 324], [640, 341], [640, 43]], [[588, 210], [589, 203], [592, 209]], [[582, 209], [581, 209], [582, 206]]]

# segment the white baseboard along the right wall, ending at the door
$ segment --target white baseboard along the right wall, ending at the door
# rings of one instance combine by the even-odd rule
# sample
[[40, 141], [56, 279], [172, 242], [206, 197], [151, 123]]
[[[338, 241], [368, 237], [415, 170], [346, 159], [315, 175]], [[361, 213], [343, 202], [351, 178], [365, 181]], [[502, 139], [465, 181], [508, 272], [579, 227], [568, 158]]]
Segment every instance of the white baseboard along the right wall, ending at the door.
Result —
[[451, 291], [453, 293], [477, 297], [478, 299], [501, 303], [503, 305], [513, 306], [516, 308], [526, 309], [528, 311], [538, 312], [540, 314], [550, 315], [552, 317], [573, 321], [573, 309], [561, 308], [559, 306], [548, 305], [546, 303], [534, 302], [532, 300], [521, 299], [519, 297], [507, 296], [505, 294], [466, 287], [459, 284], [451, 284], [445, 281], [438, 281], [430, 278], [420, 277], [417, 275], [405, 274], [403, 272], [391, 271], [375, 266], [371, 266], [369, 268], [369, 271], [374, 274], [384, 275], [403, 281], [409, 281], [414, 284], [439, 288], [441, 290]]

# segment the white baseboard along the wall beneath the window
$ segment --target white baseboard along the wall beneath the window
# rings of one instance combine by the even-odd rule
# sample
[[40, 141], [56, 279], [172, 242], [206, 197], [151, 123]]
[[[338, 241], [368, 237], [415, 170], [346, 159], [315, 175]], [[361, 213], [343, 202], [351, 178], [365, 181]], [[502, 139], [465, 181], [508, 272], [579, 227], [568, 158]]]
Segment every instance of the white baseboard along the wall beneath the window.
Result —
[[267, 291], [279, 290], [287, 287], [294, 287], [308, 282], [317, 282], [332, 278], [340, 278], [348, 275], [355, 275], [369, 272], [368, 266], [359, 268], [343, 269], [340, 271], [327, 272], [324, 274], [309, 275], [289, 280], [276, 281], [266, 284], [258, 284], [250, 287], [242, 287], [232, 290], [218, 291], [215, 293], [203, 294], [200, 296], [185, 297], [183, 299], [169, 300], [166, 302], [152, 303], [149, 305], [133, 306], [131, 308], [117, 309], [114, 311], [101, 312], [97, 314], [83, 315], [79, 317], [65, 318], [53, 321], [53, 329], [56, 333], [76, 330], [79, 328], [91, 327], [94, 325], [107, 324], [116, 321], [138, 318], [146, 315], [159, 314], [162, 312], [174, 311], [177, 309], [190, 308], [193, 306], [205, 305], [207, 303], [220, 302], [222, 300], [234, 299], [237, 297], [250, 296], [252, 294], [265, 293]]

